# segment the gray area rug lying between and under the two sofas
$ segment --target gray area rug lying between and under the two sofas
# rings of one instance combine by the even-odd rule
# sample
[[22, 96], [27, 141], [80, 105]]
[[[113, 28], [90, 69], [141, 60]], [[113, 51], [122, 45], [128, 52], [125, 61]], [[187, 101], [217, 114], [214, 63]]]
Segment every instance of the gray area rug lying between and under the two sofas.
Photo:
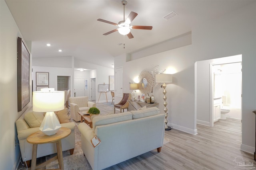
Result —
[[[88, 160], [84, 156], [84, 153], [82, 151], [81, 147], [81, 133], [78, 130], [78, 125], [80, 122], [75, 122], [75, 149], [74, 154], [70, 155], [69, 150], [63, 151], [63, 162], [64, 162], [64, 169], [65, 170], [92, 170]], [[164, 143], [169, 143], [170, 139], [164, 137]], [[51, 154], [49, 156], [46, 156], [46, 160], [49, 160], [50, 158], [56, 156], [56, 154]], [[46, 166], [46, 169], [57, 169], [59, 168], [58, 160], [55, 160], [48, 164]]]

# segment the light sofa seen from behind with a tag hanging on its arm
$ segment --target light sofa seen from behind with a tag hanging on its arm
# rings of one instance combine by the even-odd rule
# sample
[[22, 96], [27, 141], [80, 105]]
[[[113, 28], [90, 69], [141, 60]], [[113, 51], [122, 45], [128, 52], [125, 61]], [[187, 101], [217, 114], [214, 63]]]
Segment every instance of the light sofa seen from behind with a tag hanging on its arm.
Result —
[[[161, 151], [164, 141], [164, 117], [157, 107], [138, 111], [95, 116], [92, 129], [80, 123], [82, 150], [93, 170], [101, 170], [150, 150]], [[91, 139], [101, 143], [95, 148]]]

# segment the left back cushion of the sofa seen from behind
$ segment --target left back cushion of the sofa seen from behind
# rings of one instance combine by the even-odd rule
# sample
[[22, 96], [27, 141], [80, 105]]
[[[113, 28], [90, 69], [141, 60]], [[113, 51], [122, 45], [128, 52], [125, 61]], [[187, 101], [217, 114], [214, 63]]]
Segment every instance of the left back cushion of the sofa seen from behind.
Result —
[[130, 113], [129, 111], [105, 116], [94, 116], [94, 118], [92, 119], [92, 129], [94, 131], [96, 126], [108, 125], [110, 123], [116, 123], [127, 120], [132, 120], [132, 113]]

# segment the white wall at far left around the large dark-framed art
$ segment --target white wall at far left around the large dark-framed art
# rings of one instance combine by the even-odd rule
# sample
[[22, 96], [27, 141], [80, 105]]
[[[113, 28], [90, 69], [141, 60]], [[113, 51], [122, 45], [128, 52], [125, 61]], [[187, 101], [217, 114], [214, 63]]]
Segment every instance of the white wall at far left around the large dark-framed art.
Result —
[[[17, 37], [23, 37], [4, 0], [0, 0], [0, 16], [0, 169], [14, 170], [20, 158], [20, 148], [15, 146], [15, 140], [18, 143], [15, 121], [30, 105], [32, 94], [30, 93], [30, 103], [18, 112]], [[25, 43], [28, 43], [27, 47], [31, 51], [31, 42]], [[30, 55], [30, 66], [31, 61]]]

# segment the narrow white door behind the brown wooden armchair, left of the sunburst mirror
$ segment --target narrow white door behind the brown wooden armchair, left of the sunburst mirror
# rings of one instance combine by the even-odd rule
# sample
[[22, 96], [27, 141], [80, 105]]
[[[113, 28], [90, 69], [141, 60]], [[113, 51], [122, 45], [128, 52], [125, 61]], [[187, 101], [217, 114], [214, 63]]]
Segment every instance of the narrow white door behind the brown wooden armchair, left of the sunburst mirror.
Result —
[[115, 97], [123, 97], [123, 68], [115, 69]]

